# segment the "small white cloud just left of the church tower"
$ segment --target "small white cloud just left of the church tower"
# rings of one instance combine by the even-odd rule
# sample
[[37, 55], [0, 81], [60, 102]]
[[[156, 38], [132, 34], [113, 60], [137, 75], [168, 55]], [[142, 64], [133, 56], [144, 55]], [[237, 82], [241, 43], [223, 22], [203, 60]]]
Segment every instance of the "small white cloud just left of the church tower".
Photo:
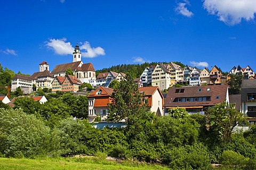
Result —
[[66, 38], [62, 39], [50, 39], [50, 42], [46, 41], [46, 46], [54, 50], [55, 54], [67, 55], [72, 54], [74, 48], [69, 42], [66, 42]]

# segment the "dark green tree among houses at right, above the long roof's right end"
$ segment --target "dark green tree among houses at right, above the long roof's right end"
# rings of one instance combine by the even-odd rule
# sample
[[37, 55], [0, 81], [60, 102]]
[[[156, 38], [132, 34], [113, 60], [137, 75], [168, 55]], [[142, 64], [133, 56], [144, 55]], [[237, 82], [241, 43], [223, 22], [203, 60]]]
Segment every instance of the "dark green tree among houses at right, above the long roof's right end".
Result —
[[244, 80], [244, 75], [242, 72], [238, 74], [229, 74], [230, 79], [227, 81], [229, 86], [229, 94], [240, 94], [241, 91], [241, 84]]

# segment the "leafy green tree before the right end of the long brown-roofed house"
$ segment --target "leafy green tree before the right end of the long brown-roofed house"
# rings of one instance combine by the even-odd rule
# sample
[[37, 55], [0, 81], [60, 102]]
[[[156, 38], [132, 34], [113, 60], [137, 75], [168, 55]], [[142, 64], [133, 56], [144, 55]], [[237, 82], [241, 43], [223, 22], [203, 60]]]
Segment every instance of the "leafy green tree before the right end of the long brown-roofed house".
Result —
[[246, 123], [243, 113], [236, 111], [234, 104], [226, 102], [210, 107], [206, 116], [212, 140], [231, 141], [235, 126]]

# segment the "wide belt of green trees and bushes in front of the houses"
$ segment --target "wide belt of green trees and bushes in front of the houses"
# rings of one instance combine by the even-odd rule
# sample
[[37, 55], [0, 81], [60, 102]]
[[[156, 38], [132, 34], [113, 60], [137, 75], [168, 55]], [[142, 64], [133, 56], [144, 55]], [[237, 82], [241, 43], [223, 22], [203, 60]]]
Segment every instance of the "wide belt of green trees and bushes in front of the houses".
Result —
[[[171, 169], [211, 169], [211, 164], [222, 164], [227, 169], [256, 169], [256, 126], [250, 126], [246, 132], [234, 131], [238, 124], [246, 121], [233, 105], [224, 102], [210, 107], [206, 116], [189, 115], [186, 109], [175, 108], [168, 116], [156, 117], [141, 105], [143, 94], [139, 93], [131, 75], [114, 87], [108, 120], [125, 119], [123, 129], [93, 128], [87, 122], [86, 96], [57, 92], [47, 95], [49, 101], [43, 105], [30, 98], [16, 99], [14, 108], [0, 103], [0, 157], [21, 160], [51, 157], [37, 160], [38, 163], [25, 160], [44, 169], [49, 165], [57, 164], [58, 169], [59, 164], [77, 166], [82, 164], [76, 165], [76, 161], [89, 161], [71, 159], [75, 155], [118, 157], [127, 164], [145, 162]], [[54, 163], [58, 159], [65, 161]], [[7, 159], [6, 162], [12, 161], [14, 165], [9, 169], [21, 169], [17, 167], [19, 160]], [[41, 165], [44, 161], [53, 163]], [[109, 169], [114, 169], [112, 166], [126, 169], [103, 159], [94, 161]], [[103, 165], [90, 166], [108, 169]]]

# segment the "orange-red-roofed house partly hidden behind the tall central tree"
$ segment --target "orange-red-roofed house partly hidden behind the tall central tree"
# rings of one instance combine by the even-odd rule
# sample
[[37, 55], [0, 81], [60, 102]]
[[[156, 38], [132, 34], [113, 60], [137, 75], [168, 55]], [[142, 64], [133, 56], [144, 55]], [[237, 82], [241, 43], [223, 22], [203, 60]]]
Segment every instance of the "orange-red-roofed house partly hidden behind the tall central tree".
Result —
[[[88, 95], [88, 116], [89, 122], [93, 122], [96, 116], [101, 117], [101, 121], [105, 121], [108, 117], [108, 104], [111, 103], [111, 94], [113, 89], [99, 87]], [[157, 116], [163, 116], [164, 97], [158, 87], [142, 87], [139, 92], [143, 93], [144, 99], [142, 104], [149, 107], [151, 112], [155, 112]]]

